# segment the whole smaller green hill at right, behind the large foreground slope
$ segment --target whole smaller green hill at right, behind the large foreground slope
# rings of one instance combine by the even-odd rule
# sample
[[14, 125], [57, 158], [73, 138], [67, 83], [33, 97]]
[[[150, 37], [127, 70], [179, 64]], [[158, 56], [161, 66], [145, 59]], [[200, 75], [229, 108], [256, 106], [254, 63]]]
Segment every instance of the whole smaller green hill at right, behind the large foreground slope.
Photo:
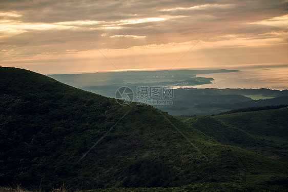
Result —
[[283, 161], [288, 155], [287, 108], [180, 119], [222, 144], [283, 157]]

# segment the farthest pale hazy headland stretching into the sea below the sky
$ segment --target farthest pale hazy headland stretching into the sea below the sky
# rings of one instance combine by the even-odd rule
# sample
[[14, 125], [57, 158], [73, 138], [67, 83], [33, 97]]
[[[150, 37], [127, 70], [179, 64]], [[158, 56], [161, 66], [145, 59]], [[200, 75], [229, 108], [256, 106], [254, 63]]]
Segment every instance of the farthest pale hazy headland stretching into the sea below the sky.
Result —
[[83, 74], [48, 74], [62, 83], [74, 87], [89, 86], [124, 86], [124, 85], [157, 85], [157, 86], [190, 86], [208, 84], [213, 78], [199, 78], [197, 74], [238, 72], [239, 70], [160, 70], [160, 71], [120, 71], [96, 72]]

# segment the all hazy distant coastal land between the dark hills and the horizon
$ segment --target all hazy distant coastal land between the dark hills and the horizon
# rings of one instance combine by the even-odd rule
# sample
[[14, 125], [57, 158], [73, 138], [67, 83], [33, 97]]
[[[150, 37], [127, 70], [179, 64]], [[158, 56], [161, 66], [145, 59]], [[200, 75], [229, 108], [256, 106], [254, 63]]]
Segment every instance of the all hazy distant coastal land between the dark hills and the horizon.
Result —
[[[245, 107], [287, 105], [288, 90], [271, 89], [203, 89], [201, 86], [216, 85], [210, 76], [231, 76], [235, 79], [239, 70], [163, 70], [99, 72], [89, 74], [54, 74], [51, 78], [71, 86], [115, 98], [121, 86], [130, 87], [134, 95], [138, 86], [180, 87], [174, 89], [173, 105], [152, 106], [176, 116], [219, 114]], [[204, 75], [205, 77], [202, 77]], [[235, 76], [235, 78], [233, 78]], [[222, 79], [223, 79], [222, 78]], [[221, 79], [221, 78], [220, 78]], [[229, 84], [231, 81], [224, 82]], [[250, 84], [253, 84], [250, 82]], [[193, 87], [193, 88], [192, 88]], [[161, 99], [153, 98], [159, 101]], [[137, 101], [134, 98], [133, 101]]]

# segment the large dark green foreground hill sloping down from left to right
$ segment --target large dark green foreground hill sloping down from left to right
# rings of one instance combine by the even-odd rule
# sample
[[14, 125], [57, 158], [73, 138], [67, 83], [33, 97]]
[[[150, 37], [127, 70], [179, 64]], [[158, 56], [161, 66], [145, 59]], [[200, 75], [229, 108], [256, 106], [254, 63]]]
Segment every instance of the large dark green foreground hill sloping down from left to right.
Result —
[[0, 146], [2, 186], [282, 189], [288, 179], [287, 164], [222, 145], [154, 107], [17, 68], [0, 68]]

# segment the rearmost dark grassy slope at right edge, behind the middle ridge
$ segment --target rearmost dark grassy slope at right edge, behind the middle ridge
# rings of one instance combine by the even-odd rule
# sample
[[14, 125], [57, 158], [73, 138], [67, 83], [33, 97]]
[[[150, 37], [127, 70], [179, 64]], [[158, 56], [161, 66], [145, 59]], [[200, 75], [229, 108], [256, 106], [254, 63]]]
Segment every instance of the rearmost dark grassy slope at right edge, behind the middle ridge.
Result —
[[251, 111], [230, 116], [215, 116], [234, 127], [260, 138], [263, 143], [261, 153], [273, 156], [288, 155], [288, 109]]

